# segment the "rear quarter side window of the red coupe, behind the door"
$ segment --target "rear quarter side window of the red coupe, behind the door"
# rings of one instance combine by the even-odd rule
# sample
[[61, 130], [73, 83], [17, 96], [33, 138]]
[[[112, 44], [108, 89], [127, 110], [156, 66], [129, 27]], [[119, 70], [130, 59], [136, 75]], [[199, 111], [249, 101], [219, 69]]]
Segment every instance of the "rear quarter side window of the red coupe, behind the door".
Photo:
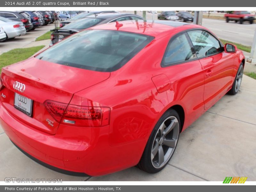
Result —
[[186, 33], [174, 38], [166, 49], [163, 65], [195, 59], [196, 55], [192, 53], [193, 46], [190, 44]]

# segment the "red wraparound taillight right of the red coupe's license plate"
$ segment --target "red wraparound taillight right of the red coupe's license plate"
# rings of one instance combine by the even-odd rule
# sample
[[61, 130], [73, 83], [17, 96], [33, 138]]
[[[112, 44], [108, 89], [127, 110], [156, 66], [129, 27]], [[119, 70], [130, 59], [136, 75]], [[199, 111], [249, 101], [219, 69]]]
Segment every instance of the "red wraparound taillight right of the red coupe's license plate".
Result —
[[44, 106], [61, 124], [83, 127], [102, 127], [109, 124], [110, 108], [78, 106], [46, 100]]

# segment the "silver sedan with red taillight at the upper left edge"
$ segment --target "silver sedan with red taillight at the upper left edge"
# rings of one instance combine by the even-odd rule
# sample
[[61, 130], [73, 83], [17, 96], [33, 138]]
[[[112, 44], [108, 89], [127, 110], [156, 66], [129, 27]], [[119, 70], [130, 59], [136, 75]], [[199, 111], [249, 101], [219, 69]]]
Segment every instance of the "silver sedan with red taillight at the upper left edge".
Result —
[[8, 39], [26, 34], [26, 28], [20, 21], [13, 21], [4, 17], [0, 17], [0, 26], [3, 27], [4, 33]]

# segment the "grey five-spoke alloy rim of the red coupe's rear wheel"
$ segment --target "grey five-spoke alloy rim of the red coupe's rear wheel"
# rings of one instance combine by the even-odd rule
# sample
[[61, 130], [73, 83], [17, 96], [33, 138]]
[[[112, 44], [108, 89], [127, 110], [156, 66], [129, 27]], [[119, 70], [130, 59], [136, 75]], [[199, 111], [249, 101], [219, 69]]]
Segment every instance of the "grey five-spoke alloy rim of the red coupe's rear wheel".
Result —
[[169, 161], [176, 148], [178, 138], [178, 119], [175, 116], [170, 116], [157, 130], [151, 149], [151, 162], [155, 168], [161, 168]]

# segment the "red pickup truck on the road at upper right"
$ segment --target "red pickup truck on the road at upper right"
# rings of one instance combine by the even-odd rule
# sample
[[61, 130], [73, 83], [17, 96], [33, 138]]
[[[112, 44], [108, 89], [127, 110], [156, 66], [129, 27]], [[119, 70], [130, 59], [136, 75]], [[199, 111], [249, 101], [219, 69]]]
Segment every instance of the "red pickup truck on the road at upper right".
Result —
[[234, 11], [233, 13], [227, 13], [224, 15], [226, 22], [234, 20], [235, 22], [239, 21], [240, 24], [243, 24], [244, 21], [249, 21], [251, 24], [255, 20], [254, 15], [248, 11]]

